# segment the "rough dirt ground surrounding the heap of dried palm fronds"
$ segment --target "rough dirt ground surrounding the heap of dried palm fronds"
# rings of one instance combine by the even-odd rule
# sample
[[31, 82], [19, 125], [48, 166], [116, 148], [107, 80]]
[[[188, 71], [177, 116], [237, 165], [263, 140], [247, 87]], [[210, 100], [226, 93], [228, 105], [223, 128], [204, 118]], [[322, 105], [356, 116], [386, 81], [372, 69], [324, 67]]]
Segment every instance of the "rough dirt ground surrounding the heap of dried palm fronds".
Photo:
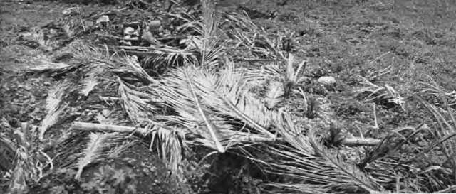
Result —
[[[153, 2], [157, 9], [167, 5]], [[74, 6], [86, 14], [119, 8], [115, 4], [63, 1], [0, 2], [0, 118], [10, 126], [18, 128], [21, 122], [39, 126], [46, 116], [47, 91], [58, 83], [52, 77], [24, 72], [33, 67], [26, 59], [51, 55], [53, 51], [29, 45], [19, 36], [51, 21], [69, 22], [62, 11]], [[432, 77], [445, 90], [456, 90], [456, 1], [224, 0], [219, 6], [221, 11], [247, 13], [268, 33], [290, 33], [291, 53], [308, 61], [300, 85], [303, 92], [331, 102], [328, 109], [336, 112], [343, 128], [353, 136], [382, 139], [393, 129], [430, 121], [430, 115], [413, 101], [420, 80]], [[323, 87], [317, 81], [323, 76], [334, 77], [335, 85]], [[405, 100], [404, 107], [365, 102], [354, 95], [353, 91], [362, 86], [358, 76], [395, 88]], [[306, 102], [301, 95], [292, 95], [284, 103], [297, 126], [316, 126], [308, 124], [314, 119], [311, 112], [302, 109]], [[378, 128], [370, 129], [374, 114]], [[51, 131], [65, 129], [68, 123], [61, 122]], [[328, 132], [325, 130], [323, 133]], [[60, 135], [51, 132], [48, 139], [53, 140], [48, 146], [53, 146]], [[207, 164], [203, 172], [195, 170], [199, 164], [189, 159], [186, 171], [192, 178], [187, 183], [175, 183], [160, 157], [149, 150], [149, 143], [150, 139], [131, 137], [127, 151], [119, 158], [90, 166], [81, 181], [72, 179], [73, 169], [56, 171], [39, 183], [31, 183], [28, 193], [96, 193], [96, 178], [119, 171], [125, 184], [135, 185], [133, 193], [261, 193], [257, 185], [264, 177], [247, 158], [232, 153], [211, 156], [214, 162]], [[428, 162], [440, 165], [439, 158], [433, 159]], [[8, 183], [3, 171], [0, 175], [0, 193], [5, 193]], [[125, 185], [118, 187], [131, 191]], [[119, 188], [112, 186], [112, 192], [122, 193]], [[434, 190], [423, 190], [430, 191]]]

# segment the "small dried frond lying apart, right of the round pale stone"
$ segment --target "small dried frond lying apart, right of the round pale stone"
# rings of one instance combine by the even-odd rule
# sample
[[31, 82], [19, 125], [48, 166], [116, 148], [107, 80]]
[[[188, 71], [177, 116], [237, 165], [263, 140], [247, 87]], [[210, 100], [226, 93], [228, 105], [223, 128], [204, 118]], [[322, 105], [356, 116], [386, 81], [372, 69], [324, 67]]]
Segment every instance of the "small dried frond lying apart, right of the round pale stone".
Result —
[[365, 77], [359, 77], [361, 80], [363, 80], [366, 87], [362, 87], [356, 90], [356, 93], [358, 96], [366, 95], [363, 97], [365, 99], [365, 102], [380, 102], [385, 100], [387, 103], [396, 104], [404, 109], [405, 99], [401, 97], [393, 87], [388, 84], [385, 84], [383, 87], [381, 87], [379, 85], [373, 84], [373, 82], [369, 81]]

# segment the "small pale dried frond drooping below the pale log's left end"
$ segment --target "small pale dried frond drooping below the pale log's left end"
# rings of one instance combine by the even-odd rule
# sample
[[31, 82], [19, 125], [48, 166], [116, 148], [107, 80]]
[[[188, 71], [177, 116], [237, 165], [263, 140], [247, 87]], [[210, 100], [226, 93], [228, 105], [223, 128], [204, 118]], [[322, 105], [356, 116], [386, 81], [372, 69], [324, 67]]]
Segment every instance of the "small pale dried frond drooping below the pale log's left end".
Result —
[[80, 153], [81, 158], [79, 158], [78, 162], [76, 163], [76, 168], [78, 168], [78, 171], [76, 173], [75, 178], [81, 178], [83, 169], [86, 166], [88, 166], [90, 163], [99, 160], [100, 158], [107, 156], [107, 150], [110, 149], [111, 146], [117, 144], [119, 141], [123, 139], [124, 137], [120, 136], [117, 133], [90, 133], [86, 149], [84, 149], [83, 153]]

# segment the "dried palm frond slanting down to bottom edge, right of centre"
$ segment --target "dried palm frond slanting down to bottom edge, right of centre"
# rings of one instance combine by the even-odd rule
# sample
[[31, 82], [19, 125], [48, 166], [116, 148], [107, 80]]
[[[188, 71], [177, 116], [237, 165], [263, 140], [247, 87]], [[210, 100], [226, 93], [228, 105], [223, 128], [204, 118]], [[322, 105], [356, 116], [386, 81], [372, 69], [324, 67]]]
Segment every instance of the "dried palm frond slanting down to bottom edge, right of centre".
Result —
[[[326, 149], [312, 131], [309, 131], [309, 137], [304, 136], [294, 127], [288, 114], [281, 113], [281, 117], [275, 121], [277, 131], [287, 144], [271, 146], [268, 151], [276, 158], [263, 162], [267, 171], [289, 177], [294, 183], [272, 185], [301, 193], [377, 193], [382, 190], [381, 186], [368, 178], [366, 173]], [[299, 186], [306, 184], [309, 184], [309, 187]]]

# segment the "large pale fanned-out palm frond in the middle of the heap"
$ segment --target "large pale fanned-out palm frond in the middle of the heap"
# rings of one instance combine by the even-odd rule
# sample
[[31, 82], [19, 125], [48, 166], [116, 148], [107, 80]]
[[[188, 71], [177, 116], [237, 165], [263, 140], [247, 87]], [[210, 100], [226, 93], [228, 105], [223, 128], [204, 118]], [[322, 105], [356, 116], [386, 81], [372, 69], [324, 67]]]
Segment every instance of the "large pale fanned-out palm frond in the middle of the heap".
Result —
[[[230, 132], [236, 130], [232, 125], [235, 123], [239, 126], [246, 124], [252, 132], [260, 136], [274, 138], [274, 134], [267, 129], [271, 125], [271, 116], [274, 112], [246, 93], [247, 88], [244, 87], [242, 74], [234, 68], [228, 68], [229, 66], [219, 72], [192, 66], [170, 72], [162, 80], [157, 93], [179, 115], [172, 122], [178, 122], [195, 134], [201, 135], [203, 139], [194, 141], [206, 146], [211, 145], [210, 142], [214, 145], [214, 138], [209, 130], [214, 131], [222, 145], [227, 145], [228, 142], [235, 144], [237, 141], [230, 136], [236, 134]], [[189, 82], [192, 87], [189, 86]], [[182, 87], [186, 85], [188, 87]], [[237, 120], [227, 119], [230, 117]], [[211, 147], [218, 149], [216, 146]]]

